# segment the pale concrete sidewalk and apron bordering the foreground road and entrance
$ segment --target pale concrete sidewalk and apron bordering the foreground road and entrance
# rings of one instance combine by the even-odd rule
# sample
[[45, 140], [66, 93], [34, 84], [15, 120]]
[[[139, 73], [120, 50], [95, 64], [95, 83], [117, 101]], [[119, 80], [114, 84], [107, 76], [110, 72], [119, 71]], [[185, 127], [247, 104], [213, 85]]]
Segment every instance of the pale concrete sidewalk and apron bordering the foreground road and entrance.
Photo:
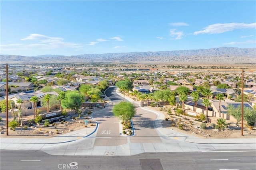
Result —
[[[117, 92], [120, 94], [120, 92]], [[120, 94], [122, 95], [122, 94]], [[135, 102], [126, 97], [130, 102]], [[136, 102], [137, 103], [137, 102]], [[113, 151], [115, 155], [133, 155], [143, 152], [184, 152], [184, 151], [205, 151], [218, 149], [248, 149], [256, 150], [256, 138], [238, 139], [211, 139], [199, 138], [189, 134], [163, 128], [161, 121], [164, 114], [160, 111], [150, 110], [157, 115], [154, 122], [156, 130], [162, 139], [162, 143], [129, 143], [124, 146], [115, 147], [94, 147], [98, 123], [94, 127], [83, 128], [64, 135], [52, 138], [0, 138], [0, 150], [47, 150], [49, 154], [59, 155], [106, 155]], [[92, 114], [93, 115], [93, 114]], [[91, 115], [91, 116], [92, 116]], [[129, 138], [127, 137], [128, 141]], [[79, 149], [78, 149], [79, 148]], [[82, 149], [81, 149], [82, 148]]]

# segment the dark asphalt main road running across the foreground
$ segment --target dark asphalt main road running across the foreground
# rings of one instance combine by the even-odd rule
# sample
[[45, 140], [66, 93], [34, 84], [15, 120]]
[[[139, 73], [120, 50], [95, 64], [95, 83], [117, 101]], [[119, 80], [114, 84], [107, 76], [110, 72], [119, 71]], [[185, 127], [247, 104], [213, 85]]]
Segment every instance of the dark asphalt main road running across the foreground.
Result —
[[[254, 152], [164, 152], [134, 156], [55, 156], [2, 150], [1, 170], [255, 170]], [[74, 164], [71, 167], [69, 164]], [[69, 168], [68, 168], [69, 167]]]

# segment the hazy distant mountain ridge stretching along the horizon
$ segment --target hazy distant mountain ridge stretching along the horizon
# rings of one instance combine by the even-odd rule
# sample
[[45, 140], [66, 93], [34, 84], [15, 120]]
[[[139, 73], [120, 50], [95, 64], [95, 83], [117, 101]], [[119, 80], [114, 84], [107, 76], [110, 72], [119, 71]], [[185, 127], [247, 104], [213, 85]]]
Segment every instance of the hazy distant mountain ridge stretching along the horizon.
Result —
[[12, 63], [157, 63], [157, 62], [197, 62], [197, 63], [256, 63], [256, 48], [219, 47], [197, 50], [106, 53], [84, 55], [42, 55], [26, 57], [20, 55], [0, 55], [1, 61]]

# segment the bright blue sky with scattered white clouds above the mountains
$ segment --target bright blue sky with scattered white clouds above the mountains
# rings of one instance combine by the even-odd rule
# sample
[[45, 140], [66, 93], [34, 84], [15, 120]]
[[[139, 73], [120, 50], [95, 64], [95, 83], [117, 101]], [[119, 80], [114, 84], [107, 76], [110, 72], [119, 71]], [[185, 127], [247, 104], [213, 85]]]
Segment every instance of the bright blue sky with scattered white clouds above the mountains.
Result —
[[256, 1], [1, 0], [0, 53], [256, 47]]

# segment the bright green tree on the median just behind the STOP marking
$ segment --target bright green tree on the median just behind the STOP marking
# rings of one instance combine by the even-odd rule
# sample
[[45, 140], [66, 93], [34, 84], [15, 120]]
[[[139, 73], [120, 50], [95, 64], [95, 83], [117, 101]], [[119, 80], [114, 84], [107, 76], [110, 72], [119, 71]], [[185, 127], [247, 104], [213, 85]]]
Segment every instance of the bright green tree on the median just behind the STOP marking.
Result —
[[135, 115], [136, 110], [132, 103], [130, 102], [120, 102], [113, 108], [113, 113], [116, 117], [119, 117], [127, 124], [130, 119]]

